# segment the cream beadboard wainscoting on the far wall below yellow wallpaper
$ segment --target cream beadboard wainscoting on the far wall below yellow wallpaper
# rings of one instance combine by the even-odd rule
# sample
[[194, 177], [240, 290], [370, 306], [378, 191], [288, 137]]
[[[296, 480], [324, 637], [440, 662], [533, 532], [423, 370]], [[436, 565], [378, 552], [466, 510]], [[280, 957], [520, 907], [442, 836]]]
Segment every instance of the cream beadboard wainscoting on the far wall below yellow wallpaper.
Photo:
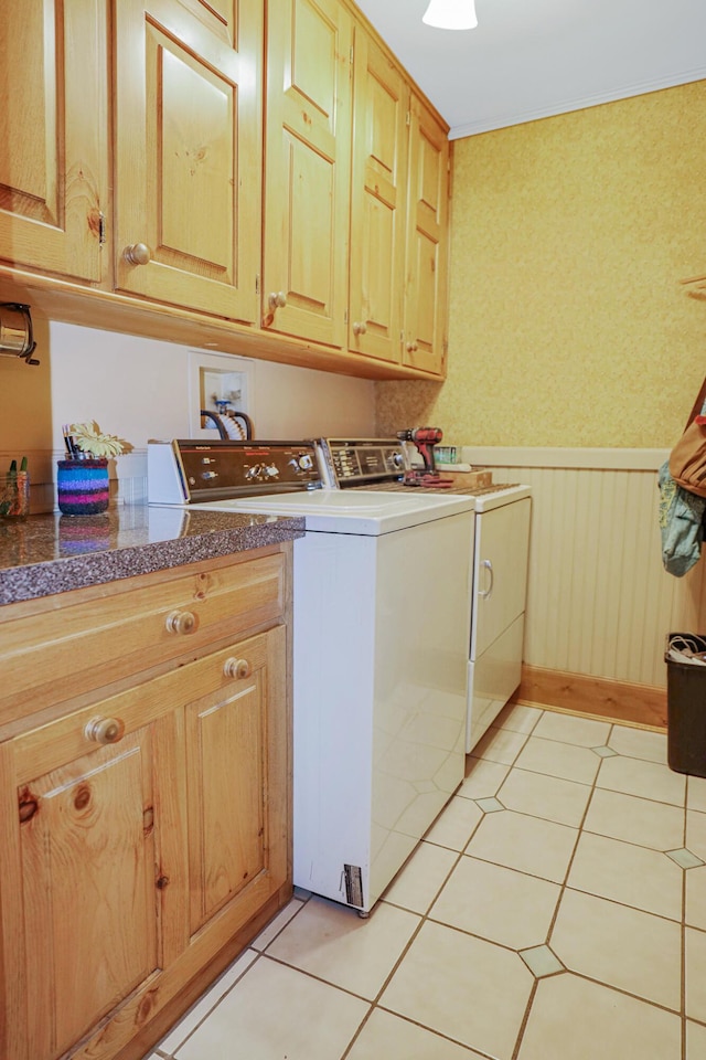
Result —
[[[537, 458], [546, 459], [541, 452]], [[607, 451], [609, 465], [613, 452]], [[684, 577], [665, 572], [656, 470], [644, 469], [654, 462], [600, 468], [600, 451], [591, 451], [593, 466], [581, 467], [571, 458], [576, 451], [566, 459], [553, 451], [553, 466], [542, 467], [531, 466], [532, 453], [518, 449], [516, 464], [501, 466], [482, 451], [494, 481], [533, 490], [524, 661], [664, 686], [667, 633], [706, 634], [706, 558]], [[478, 455], [463, 452], [474, 464]], [[510, 453], [502, 455], [507, 460]]]

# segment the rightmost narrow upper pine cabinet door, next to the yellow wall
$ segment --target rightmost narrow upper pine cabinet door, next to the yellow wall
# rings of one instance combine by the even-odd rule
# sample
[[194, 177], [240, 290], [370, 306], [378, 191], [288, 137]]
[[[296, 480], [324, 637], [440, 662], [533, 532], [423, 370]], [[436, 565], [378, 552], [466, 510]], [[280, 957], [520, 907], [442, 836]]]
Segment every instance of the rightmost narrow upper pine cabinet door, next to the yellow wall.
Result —
[[403, 363], [441, 374], [445, 365], [449, 141], [413, 96]]

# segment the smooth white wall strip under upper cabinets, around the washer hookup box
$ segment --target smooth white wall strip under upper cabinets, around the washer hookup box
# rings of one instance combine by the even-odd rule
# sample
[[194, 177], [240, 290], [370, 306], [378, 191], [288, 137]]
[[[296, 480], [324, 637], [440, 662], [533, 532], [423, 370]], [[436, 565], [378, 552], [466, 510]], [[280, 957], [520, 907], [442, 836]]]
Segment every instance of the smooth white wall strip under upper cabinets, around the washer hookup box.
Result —
[[[63, 448], [62, 423], [82, 420], [96, 420], [138, 451], [148, 438], [190, 436], [197, 402], [190, 403], [189, 347], [55, 322], [50, 339], [55, 449]], [[216, 356], [204, 357], [212, 362]], [[242, 363], [227, 354], [217, 361], [226, 369]], [[374, 433], [372, 382], [270, 361], [246, 364], [256, 437]]]

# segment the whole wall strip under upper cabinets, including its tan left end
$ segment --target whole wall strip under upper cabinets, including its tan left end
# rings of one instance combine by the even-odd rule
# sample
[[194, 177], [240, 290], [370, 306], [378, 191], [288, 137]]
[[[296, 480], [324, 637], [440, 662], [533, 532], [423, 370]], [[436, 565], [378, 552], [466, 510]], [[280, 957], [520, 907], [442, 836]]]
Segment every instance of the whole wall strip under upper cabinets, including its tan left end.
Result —
[[36, 325], [39, 367], [0, 358], [0, 467], [28, 457], [33, 512], [55, 507], [56, 460], [65, 455], [62, 424], [84, 420], [132, 446], [111, 462], [111, 475], [118, 500], [145, 500], [148, 439], [190, 437], [200, 428], [200, 359], [226, 371], [247, 370], [245, 411], [257, 438], [375, 433], [374, 384], [367, 380], [75, 325]]

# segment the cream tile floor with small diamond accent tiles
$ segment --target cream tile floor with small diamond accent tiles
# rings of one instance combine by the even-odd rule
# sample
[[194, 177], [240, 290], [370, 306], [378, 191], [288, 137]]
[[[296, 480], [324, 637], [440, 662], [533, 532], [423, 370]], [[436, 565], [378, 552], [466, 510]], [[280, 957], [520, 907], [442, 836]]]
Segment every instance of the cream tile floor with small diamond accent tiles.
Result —
[[704, 1060], [706, 780], [528, 707], [467, 772], [368, 920], [298, 892], [149, 1060]]

